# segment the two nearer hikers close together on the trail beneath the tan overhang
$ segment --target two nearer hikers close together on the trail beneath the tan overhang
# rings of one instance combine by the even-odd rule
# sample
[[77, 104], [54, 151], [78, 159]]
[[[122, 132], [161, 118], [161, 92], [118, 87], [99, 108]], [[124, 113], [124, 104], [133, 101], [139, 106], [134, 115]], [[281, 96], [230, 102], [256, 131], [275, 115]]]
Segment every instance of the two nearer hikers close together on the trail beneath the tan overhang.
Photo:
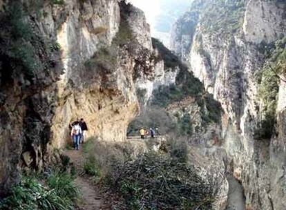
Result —
[[88, 127], [84, 119], [78, 119], [71, 125], [70, 135], [73, 138], [73, 146], [76, 150], [79, 150], [79, 144], [84, 143], [84, 133], [88, 131]]

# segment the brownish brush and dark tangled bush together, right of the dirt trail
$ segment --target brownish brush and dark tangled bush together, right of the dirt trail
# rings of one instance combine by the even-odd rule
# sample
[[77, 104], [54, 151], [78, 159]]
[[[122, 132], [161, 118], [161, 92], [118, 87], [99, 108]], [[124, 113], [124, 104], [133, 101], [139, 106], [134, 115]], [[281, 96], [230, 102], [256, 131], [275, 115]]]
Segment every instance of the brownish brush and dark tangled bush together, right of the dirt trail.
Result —
[[213, 187], [186, 163], [184, 144], [166, 145], [165, 152], [137, 158], [128, 144], [89, 140], [84, 148], [86, 156], [93, 157], [89, 167], [102, 171], [97, 180], [123, 198], [114, 209], [211, 209]]

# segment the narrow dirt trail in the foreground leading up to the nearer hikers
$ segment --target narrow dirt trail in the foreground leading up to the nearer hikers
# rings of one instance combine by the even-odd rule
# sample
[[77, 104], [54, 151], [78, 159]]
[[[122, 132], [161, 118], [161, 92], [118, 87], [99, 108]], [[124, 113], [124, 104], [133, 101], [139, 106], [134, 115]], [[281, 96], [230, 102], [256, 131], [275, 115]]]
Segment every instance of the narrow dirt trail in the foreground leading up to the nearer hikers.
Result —
[[70, 160], [75, 165], [77, 169], [78, 177], [75, 180], [75, 184], [81, 189], [83, 202], [79, 203], [80, 210], [100, 210], [100, 209], [110, 209], [106, 205], [106, 200], [102, 196], [102, 192], [99, 191], [95, 185], [88, 180], [88, 178], [82, 176], [84, 174], [84, 155], [82, 151], [65, 151], [65, 155], [70, 157]]

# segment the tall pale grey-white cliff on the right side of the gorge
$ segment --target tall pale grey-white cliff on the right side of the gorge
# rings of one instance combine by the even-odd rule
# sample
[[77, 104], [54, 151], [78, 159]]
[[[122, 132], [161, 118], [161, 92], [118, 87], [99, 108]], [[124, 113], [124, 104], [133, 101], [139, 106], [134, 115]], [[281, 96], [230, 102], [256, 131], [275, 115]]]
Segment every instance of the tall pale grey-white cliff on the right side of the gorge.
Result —
[[[282, 192], [285, 191], [283, 180], [286, 178], [286, 95], [282, 80], [278, 81], [276, 95], [276, 124], [269, 124], [275, 124], [274, 133], [270, 137], [256, 135], [265, 119], [265, 100], [260, 95], [261, 84], [256, 77], [265, 71], [267, 63], [261, 46], [265, 48], [285, 37], [285, 1], [250, 0], [233, 5], [231, 1], [222, 5], [220, 1], [197, 1], [198, 5], [199, 10], [191, 10], [189, 15], [187, 13], [175, 23], [173, 50], [222, 104], [225, 112], [222, 147], [237, 178], [242, 181], [249, 209], [285, 209], [285, 193]], [[211, 9], [217, 6], [217, 10]], [[220, 23], [219, 18], [216, 21], [219, 8], [225, 9], [225, 18], [229, 21]], [[228, 10], [231, 10], [230, 15]], [[209, 17], [213, 17], [213, 21]], [[233, 18], [240, 21], [233, 23]], [[192, 28], [191, 32], [187, 28]], [[185, 37], [188, 37], [188, 44]], [[269, 83], [271, 80], [266, 84]], [[272, 102], [276, 103], [275, 96]]]

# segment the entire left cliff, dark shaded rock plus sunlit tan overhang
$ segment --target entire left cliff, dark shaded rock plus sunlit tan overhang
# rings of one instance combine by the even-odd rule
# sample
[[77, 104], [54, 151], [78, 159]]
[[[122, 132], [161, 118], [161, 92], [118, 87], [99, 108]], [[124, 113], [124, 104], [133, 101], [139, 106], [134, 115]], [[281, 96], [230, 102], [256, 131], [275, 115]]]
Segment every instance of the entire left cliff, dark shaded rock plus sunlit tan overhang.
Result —
[[88, 136], [125, 140], [139, 112], [135, 74], [149, 70], [139, 64], [152, 46], [144, 14], [117, 0], [0, 6], [3, 194], [21, 167], [41, 169], [70, 141], [76, 117], [86, 120]]

